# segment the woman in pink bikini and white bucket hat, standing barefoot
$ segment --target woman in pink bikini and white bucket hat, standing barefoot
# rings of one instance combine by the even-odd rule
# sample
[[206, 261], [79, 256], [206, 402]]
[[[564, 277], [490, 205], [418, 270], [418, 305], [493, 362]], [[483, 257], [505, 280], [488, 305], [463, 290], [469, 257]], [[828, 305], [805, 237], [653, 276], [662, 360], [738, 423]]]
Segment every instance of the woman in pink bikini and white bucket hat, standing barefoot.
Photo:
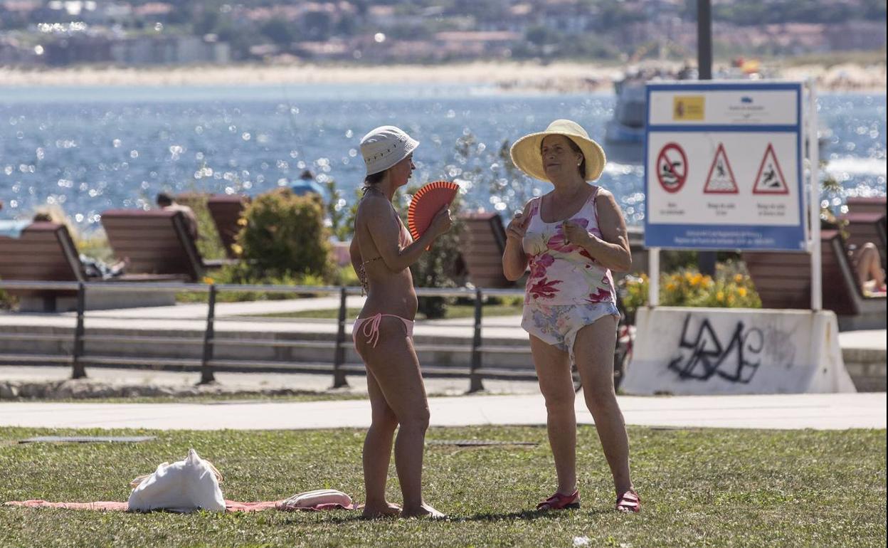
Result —
[[[419, 361], [413, 349], [416, 292], [409, 266], [435, 238], [450, 229], [450, 212], [442, 208], [416, 242], [392, 205], [392, 195], [407, 184], [413, 151], [419, 143], [394, 126], [382, 126], [361, 139], [367, 166], [364, 197], [354, 220], [352, 265], [367, 292], [367, 302], [354, 322], [354, 345], [367, 366], [367, 387], [373, 418], [364, 441], [364, 515], [403, 517], [444, 515], [425, 504], [422, 495], [423, 449], [429, 425]], [[385, 500], [394, 442], [403, 509]]]

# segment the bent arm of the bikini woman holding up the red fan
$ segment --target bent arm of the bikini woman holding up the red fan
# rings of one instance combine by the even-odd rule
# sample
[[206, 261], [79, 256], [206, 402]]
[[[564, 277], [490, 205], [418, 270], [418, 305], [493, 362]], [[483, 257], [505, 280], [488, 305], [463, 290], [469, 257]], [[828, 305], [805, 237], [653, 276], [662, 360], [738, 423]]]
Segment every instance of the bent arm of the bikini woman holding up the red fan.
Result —
[[432, 245], [435, 238], [447, 232], [452, 223], [450, 211], [443, 207], [432, 218], [432, 224], [424, 234], [403, 249], [400, 247], [401, 226], [397, 213], [385, 198], [372, 198], [366, 201], [367, 227], [370, 237], [377, 244], [380, 257], [392, 272], [400, 272], [419, 260], [425, 248]]

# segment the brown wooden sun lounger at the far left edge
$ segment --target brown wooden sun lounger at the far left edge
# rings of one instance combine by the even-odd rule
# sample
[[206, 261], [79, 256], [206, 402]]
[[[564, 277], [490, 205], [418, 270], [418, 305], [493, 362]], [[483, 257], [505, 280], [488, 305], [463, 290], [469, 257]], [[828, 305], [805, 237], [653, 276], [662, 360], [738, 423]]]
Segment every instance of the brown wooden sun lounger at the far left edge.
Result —
[[[91, 282], [67, 227], [37, 222], [25, 228], [19, 238], [0, 236], [0, 278], [28, 282]], [[183, 276], [124, 274], [107, 282], [182, 282]], [[75, 291], [9, 290], [20, 299], [23, 312], [64, 312], [76, 306]], [[134, 294], [138, 293], [138, 294]], [[174, 304], [174, 296], [138, 291], [121, 294], [87, 292], [87, 308], [160, 306]]]

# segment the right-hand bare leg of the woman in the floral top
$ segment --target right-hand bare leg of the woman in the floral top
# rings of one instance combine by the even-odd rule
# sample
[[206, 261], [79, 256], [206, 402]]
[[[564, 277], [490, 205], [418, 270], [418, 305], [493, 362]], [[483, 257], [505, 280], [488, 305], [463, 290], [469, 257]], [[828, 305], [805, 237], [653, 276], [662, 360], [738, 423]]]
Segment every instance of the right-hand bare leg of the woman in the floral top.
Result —
[[605, 316], [576, 335], [574, 357], [583, 381], [586, 407], [595, 420], [607, 465], [614, 474], [617, 496], [632, 488], [629, 472], [629, 436], [614, 393], [616, 318]]

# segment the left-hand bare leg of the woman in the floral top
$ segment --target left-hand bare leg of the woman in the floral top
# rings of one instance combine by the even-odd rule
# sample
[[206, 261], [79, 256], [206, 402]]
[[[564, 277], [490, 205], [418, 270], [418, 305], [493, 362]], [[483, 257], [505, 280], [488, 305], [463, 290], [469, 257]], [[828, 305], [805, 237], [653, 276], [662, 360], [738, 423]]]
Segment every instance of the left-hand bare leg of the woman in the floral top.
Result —
[[546, 401], [546, 430], [555, 459], [558, 492], [570, 495], [576, 489], [576, 412], [574, 379], [567, 352], [530, 336], [536, 377]]

